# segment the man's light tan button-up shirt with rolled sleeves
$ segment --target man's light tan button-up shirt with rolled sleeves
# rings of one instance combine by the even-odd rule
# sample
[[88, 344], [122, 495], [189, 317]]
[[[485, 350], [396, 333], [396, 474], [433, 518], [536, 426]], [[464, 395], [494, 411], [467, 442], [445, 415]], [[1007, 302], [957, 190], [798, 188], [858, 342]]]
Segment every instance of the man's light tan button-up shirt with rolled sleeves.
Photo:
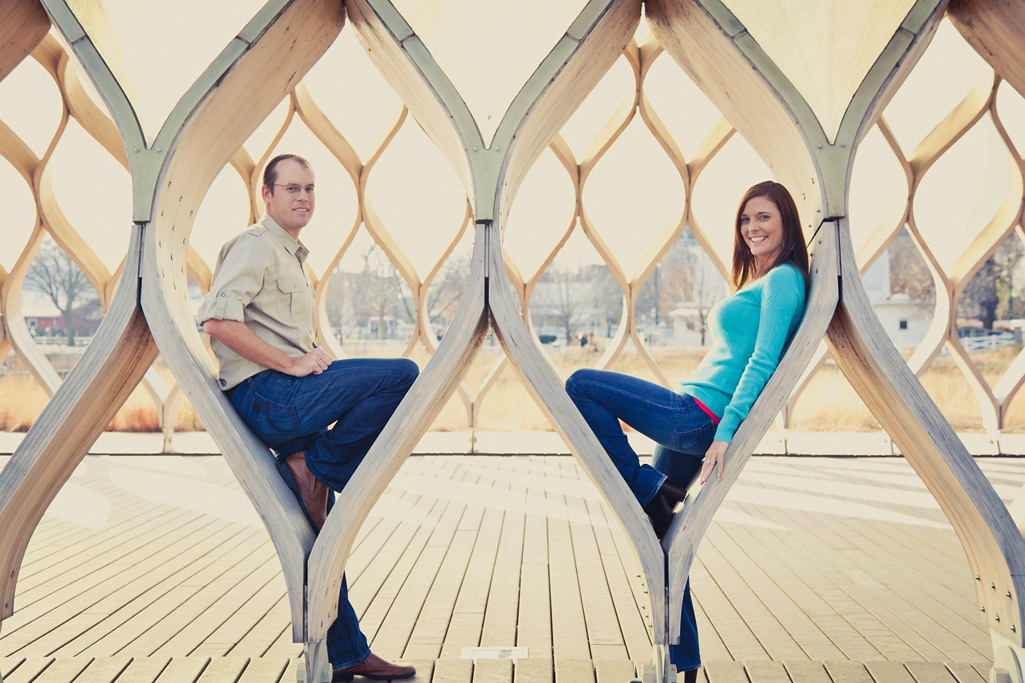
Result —
[[[210, 293], [199, 321], [234, 320], [292, 358], [310, 353], [317, 335], [317, 299], [302, 263], [310, 250], [274, 218], [255, 225], [220, 249]], [[218, 384], [229, 390], [266, 368], [216, 339], [210, 348], [220, 361]]]

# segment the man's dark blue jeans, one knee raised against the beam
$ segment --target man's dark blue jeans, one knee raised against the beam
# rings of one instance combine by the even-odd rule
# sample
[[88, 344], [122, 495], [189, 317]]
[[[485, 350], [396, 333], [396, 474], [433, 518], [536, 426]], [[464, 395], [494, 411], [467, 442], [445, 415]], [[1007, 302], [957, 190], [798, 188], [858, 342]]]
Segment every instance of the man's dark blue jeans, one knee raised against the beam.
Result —
[[[341, 491], [418, 373], [407, 358], [334, 361], [321, 374], [305, 377], [264, 370], [235, 388], [232, 404], [279, 460], [305, 451], [310, 472], [332, 491]], [[370, 656], [344, 576], [327, 651], [334, 669]]]

